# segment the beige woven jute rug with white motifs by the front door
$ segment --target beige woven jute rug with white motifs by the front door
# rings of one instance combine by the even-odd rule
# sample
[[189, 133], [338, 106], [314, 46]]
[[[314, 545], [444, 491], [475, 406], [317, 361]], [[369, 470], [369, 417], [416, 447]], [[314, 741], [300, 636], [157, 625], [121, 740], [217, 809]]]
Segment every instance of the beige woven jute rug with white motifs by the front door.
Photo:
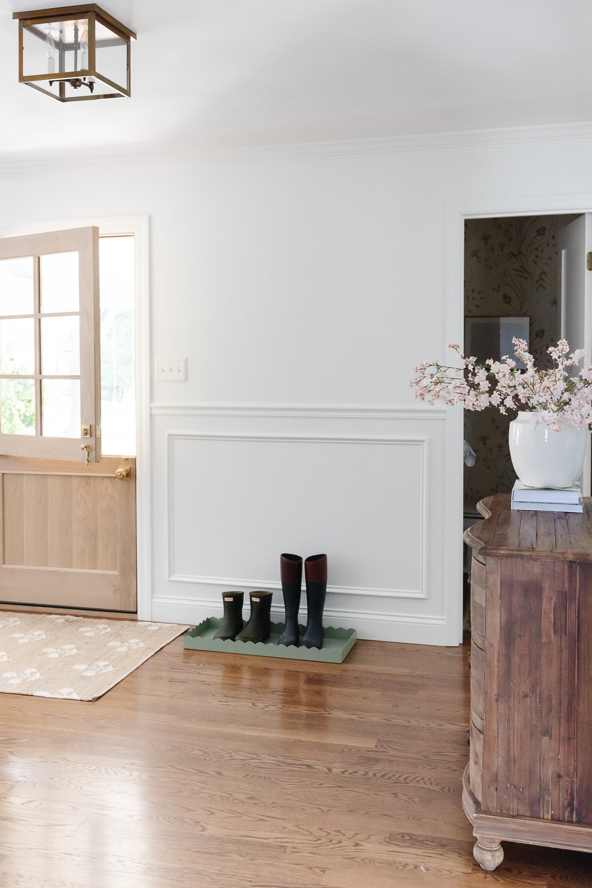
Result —
[[97, 700], [187, 628], [0, 611], [0, 693]]

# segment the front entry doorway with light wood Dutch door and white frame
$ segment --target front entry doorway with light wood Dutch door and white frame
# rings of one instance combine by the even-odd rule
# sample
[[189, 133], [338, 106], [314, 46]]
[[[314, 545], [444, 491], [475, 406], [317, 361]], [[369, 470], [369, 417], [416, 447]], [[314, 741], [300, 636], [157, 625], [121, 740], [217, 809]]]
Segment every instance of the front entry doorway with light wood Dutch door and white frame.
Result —
[[[18, 403], [0, 400], [0, 432], [14, 445], [10, 449], [4, 444], [0, 456], [0, 607], [117, 612], [149, 619], [148, 380], [143, 370], [147, 220], [97, 225], [93, 219], [90, 225], [94, 227], [88, 222], [43, 225], [41, 232], [51, 227], [50, 234], [23, 234], [2, 242], [7, 254], [0, 270], [4, 296], [13, 291], [18, 303], [6, 305], [28, 325], [16, 324], [12, 314], [3, 319], [1, 351], [6, 361], [13, 360], [4, 361], [2, 381], [4, 387], [15, 388], [15, 381], [21, 387], [34, 385], [36, 397]], [[24, 259], [10, 258], [12, 252]], [[32, 315], [23, 292], [32, 299]], [[67, 298], [72, 305], [62, 305]], [[34, 337], [28, 329], [32, 325]], [[21, 342], [26, 333], [31, 341]], [[91, 352], [89, 343], [94, 343]], [[17, 360], [27, 349], [35, 356], [33, 369]], [[89, 357], [98, 357], [99, 351], [100, 373], [99, 361]], [[27, 375], [33, 370], [31, 383]], [[56, 379], [62, 389], [69, 386], [69, 400], [61, 392], [61, 402], [54, 404], [46, 379], [54, 387]], [[79, 391], [86, 400], [77, 396]], [[88, 392], [100, 409], [94, 424], [85, 425], [85, 417], [91, 416], [84, 406]], [[59, 420], [56, 444], [48, 439], [54, 418], [54, 425]], [[85, 434], [91, 447], [84, 440], [80, 444]], [[23, 440], [33, 442], [28, 451]], [[34, 447], [48, 440], [56, 452], [37, 453]], [[95, 453], [99, 459], [89, 459]], [[137, 528], [144, 548], [137, 549]]]

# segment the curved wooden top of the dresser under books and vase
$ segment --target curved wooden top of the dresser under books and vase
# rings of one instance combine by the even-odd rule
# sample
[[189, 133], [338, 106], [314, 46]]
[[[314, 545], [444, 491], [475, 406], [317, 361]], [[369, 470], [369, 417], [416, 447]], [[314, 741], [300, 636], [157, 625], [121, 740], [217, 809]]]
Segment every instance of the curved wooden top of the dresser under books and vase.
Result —
[[480, 555], [533, 555], [541, 559], [592, 562], [592, 499], [583, 514], [512, 511], [509, 494], [478, 503], [485, 521], [469, 527], [464, 541]]

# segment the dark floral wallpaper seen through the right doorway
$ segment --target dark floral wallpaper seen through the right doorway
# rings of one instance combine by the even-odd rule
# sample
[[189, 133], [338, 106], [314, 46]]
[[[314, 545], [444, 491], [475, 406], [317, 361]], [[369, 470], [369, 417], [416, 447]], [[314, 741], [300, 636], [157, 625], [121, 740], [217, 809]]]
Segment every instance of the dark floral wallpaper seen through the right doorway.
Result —
[[[549, 345], [559, 338], [557, 232], [577, 216], [468, 219], [465, 223], [464, 313], [530, 318], [530, 352], [549, 366]], [[509, 459], [508, 427], [515, 414], [465, 412], [464, 436], [477, 454], [464, 467], [464, 509], [484, 496], [507, 493], [516, 474]]]

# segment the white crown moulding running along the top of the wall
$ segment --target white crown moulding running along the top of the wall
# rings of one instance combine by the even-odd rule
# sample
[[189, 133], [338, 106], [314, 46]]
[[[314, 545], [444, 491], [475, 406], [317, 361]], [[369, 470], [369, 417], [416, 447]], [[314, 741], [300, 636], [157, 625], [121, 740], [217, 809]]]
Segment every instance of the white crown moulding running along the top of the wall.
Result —
[[274, 161], [308, 160], [375, 155], [417, 154], [422, 151], [448, 151], [480, 147], [515, 147], [557, 142], [592, 140], [592, 123], [551, 123], [533, 126], [506, 127], [493, 130], [466, 130], [369, 139], [335, 139], [295, 142], [280, 145], [257, 145], [206, 148], [200, 145], [160, 143], [139, 150], [104, 147], [100, 152], [55, 156], [47, 154], [22, 161], [9, 157], [0, 163], [0, 178], [28, 178], [51, 175], [63, 170], [96, 170], [97, 168], [159, 163], [270, 163]]

